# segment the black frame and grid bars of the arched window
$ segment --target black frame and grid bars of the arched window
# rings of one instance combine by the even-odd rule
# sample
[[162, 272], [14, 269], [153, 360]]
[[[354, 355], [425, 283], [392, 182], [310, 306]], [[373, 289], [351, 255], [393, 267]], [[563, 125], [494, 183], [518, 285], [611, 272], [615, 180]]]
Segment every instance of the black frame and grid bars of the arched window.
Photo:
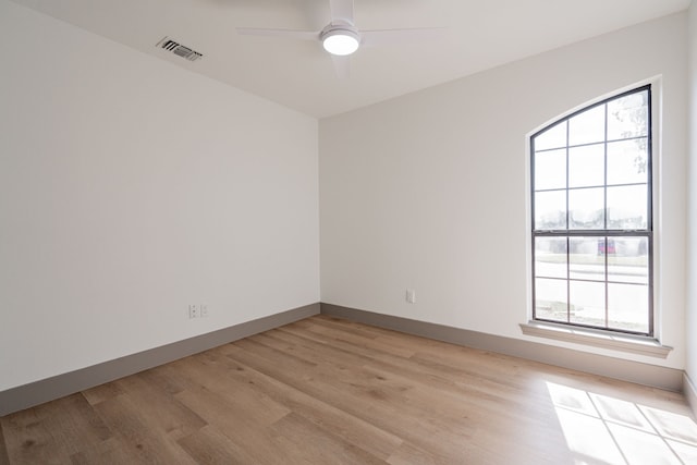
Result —
[[[600, 106], [604, 106], [608, 102], [611, 102], [613, 100], [633, 95], [633, 94], [639, 94], [646, 91], [647, 93], [647, 107], [648, 107], [648, 111], [647, 111], [647, 162], [646, 162], [646, 172], [647, 172], [647, 224], [646, 224], [646, 229], [636, 229], [636, 230], [621, 230], [621, 229], [609, 229], [608, 228], [608, 215], [607, 215], [607, 189], [608, 189], [608, 143], [612, 143], [613, 140], [609, 140], [608, 139], [608, 118], [607, 118], [607, 107], [606, 107], [606, 118], [604, 118], [604, 137], [603, 137], [603, 142], [602, 144], [604, 145], [604, 181], [603, 181], [603, 189], [604, 189], [604, 208], [606, 208], [606, 215], [604, 215], [604, 229], [583, 229], [583, 230], [578, 230], [578, 229], [570, 229], [571, 223], [570, 223], [570, 210], [568, 210], [568, 192], [570, 192], [570, 186], [568, 186], [568, 173], [570, 173], [570, 169], [568, 169], [568, 151], [570, 148], [572, 147], [577, 147], [574, 145], [570, 145], [570, 131], [568, 131], [568, 120], [571, 120], [572, 118], [584, 113], [588, 110], [591, 110], [594, 108], [600, 107]], [[655, 262], [655, 257], [653, 257], [653, 154], [652, 154], [652, 148], [653, 148], [653, 144], [652, 144], [652, 119], [653, 119], [653, 114], [652, 114], [652, 88], [651, 88], [651, 84], [647, 84], [647, 85], [643, 85], [639, 87], [635, 87], [633, 89], [626, 90], [626, 91], [622, 91], [619, 94], [615, 94], [611, 97], [604, 98], [600, 101], [594, 102], [591, 105], [585, 106], [583, 108], [580, 108], [579, 110], [576, 110], [570, 114], [564, 115], [563, 118], [560, 118], [555, 121], [553, 121], [552, 123], [546, 125], [545, 127], [542, 127], [540, 131], [536, 132], [535, 134], [533, 134], [529, 137], [529, 149], [530, 149], [530, 220], [531, 220], [531, 240], [530, 240], [530, 246], [531, 246], [531, 297], [533, 297], [533, 320], [534, 321], [542, 321], [542, 322], [551, 322], [551, 323], [555, 323], [555, 325], [564, 325], [564, 326], [570, 326], [570, 327], [574, 327], [574, 328], [587, 328], [587, 329], [592, 329], [592, 330], [601, 330], [601, 331], [607, 331], [610, 333], [625, 333], [625, 334], [636, 334], [636, 335], [644, 335], [644, 336], [653, 336], [655, 333], [655, 305], [653, 305], [653, 262]], [[565, 149], [566, 151], [566, 183], [565, 183], [565, 187], [564, 191], [566, 193], [565, 197], [566, 197], [566, 229], [564, 230], [537, 230], [536, 225], [535, 225], [535, 194], [536, 194], [536, 184], [535, 184], [535, 157], [536, 157], [536, 150], [535, 150], [535, 140], [537, 138], [537, 136], [539, 136], [540, 134], [547, 132], [548, 130], [557, 126], [558, 124], [562, 124], [566, 122], [566, 144], [564, 147], [559, 147], [558, 149]], [[615, 139], [615, 140], [624, 140], [624, 139]], [[578, 145], [582, 146], [582, 145]], [[552, 150], [552, 149], [549, 149]], [[543, 150], [540, 150], [543, 151]], [[614, 186], [614, 185], [611, 185]], [[570, 267], [571, 267], [571, 247], [570, 247], [570, 242], [573, 237], [591, 237], [591, 236], [598, 236], [598, 237], [604, 237], [606, 242], [604, 242], [604, 249], [603, 249], [603, 254], [604, 254], [604, 267], [606, 267], [606, 274], [604, 274], [604, 285], [606, 285], [606, 315], [604, 315], [604, 321], [606, 325], [603, 327], [600, 326], [594, 326], [594, 325], [585, 325], [585, 323], [580, 323], [580, 322], [574, 322], [571, 321], [571, 299], [570, 299], [570, 286], [571, 286], [571, 282], [572, 281], [576, 281], [573, 280], [571, 278], [571, 272], [570, 272]], [[608, 318], [608, 285], [610, 283], [612, 283], [612, 281], [609, 280], [608, 277], [608, 240], [610, 237], [646, 237], [647, 242], [648, 242], [648, 249], [647, 249], [647, 254], [648, 254], [648, 331], [647, 332], [643, 332], [643, 331], [631, 331], [631, 330], [626, 330], [626, 329], [622, 329], [622, 328], [614, 328], [614, 327], [609, 327], [608, 322], [609, 322], [609, 318]], [[559, 278], [560, 280], [565, 280], [566, 281], [566, 321], [560, 321], [560, 320], [553, 320], [553, 319], [545, 319], [545, 318], [539, 318], [536, 315], [536, 309], [537, 309], [537, 299], [536, 299], [536, 269], [535, 269], [535, 264], [536, 264], [536, 238], [537, 237], [565, 237], [566, 238], [566, 268], [567, 268], [567, 272], [566, 272], [566, 278]]]

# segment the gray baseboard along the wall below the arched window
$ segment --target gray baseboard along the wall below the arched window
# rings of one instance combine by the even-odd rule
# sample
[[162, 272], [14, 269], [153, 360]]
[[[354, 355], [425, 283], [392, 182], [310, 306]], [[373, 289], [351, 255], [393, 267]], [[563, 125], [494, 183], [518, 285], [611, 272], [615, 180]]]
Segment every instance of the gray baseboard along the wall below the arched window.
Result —
[[589, 354], [571, 348], [555, 347], [531, 341], [487, 334], [332, 304], [322, 303], [321, 313], [323, 315], [392, 329], [408, 334], [527, 358], [548, 365], [636, 382], [669, 391], [682, 392], [684, 389], [684, 372], [680, 369]]

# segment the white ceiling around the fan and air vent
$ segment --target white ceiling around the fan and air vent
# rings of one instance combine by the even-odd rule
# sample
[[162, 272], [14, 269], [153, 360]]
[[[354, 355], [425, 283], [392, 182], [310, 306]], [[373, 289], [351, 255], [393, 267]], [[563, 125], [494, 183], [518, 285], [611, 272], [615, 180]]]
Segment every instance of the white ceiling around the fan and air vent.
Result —
[[[355, 0], [359, 29], [444, 27], [442, 37], [362, 48], [337, 77], [318, 42], [235, 27], [319, 30], [329, 0], [14, 0], [162, 60], [323, 118], [685, 10], [690, 0]], [[164, 36], [204, 53], [188, 62]]]

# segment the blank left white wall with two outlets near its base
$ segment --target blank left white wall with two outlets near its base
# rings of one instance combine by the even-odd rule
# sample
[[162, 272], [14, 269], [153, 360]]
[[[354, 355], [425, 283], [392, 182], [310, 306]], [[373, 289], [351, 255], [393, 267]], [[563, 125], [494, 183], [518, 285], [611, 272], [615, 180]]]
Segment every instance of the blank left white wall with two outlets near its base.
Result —
[[7, 0], [0, 56], [0, 391], [319, 301], [317, 120]]

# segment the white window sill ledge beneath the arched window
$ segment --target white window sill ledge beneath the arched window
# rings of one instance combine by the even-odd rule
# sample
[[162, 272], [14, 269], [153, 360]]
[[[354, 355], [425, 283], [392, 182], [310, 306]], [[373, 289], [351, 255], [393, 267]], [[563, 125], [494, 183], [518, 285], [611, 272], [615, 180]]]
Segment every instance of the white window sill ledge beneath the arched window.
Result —
[[608, 333], [592, 329], [572, 328], [565, 325], [529, 321], [527, 323], [521, 323], [521, 329], [523, 330], [523, 334], [526, 335], [555, 339], [558, 341], [574, 342], [657, 358], [668, 357], [668, 354], [673, 350], [673, 347], [662, 345], [653, 338]]

